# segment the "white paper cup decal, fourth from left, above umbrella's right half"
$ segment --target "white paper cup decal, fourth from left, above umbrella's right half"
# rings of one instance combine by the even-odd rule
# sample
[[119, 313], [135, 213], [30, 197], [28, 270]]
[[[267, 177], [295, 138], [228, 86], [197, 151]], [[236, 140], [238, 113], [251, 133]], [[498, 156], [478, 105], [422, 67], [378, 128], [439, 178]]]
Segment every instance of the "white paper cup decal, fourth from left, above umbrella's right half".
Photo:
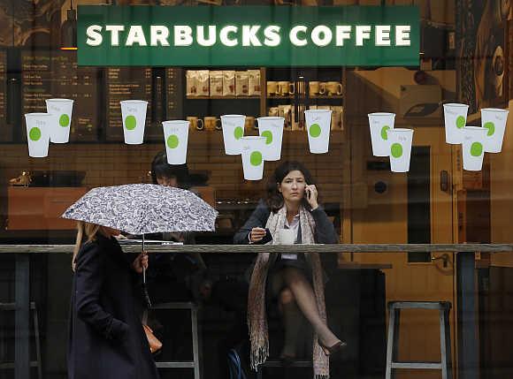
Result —
[[184, 120], [164, 121], [162, 126], [164, 128], [167, 163], [186, 163], [189, 122]]

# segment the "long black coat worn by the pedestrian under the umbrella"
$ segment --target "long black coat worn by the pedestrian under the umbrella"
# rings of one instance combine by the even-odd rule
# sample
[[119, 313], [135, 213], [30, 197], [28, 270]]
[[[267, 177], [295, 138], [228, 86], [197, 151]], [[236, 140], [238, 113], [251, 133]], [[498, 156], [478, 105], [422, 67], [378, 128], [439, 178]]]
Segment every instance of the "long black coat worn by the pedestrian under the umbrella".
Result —
[[80, 248], [71, 301], [70, 379], [158, 378], [136, 310], [138, 277], [116, 239], [98, 236]]

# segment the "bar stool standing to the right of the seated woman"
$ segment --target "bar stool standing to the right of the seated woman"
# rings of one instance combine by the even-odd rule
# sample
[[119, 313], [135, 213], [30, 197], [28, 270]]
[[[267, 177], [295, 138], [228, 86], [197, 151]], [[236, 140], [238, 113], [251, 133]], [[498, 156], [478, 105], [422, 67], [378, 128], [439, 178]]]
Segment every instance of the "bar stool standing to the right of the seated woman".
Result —
[[[448, 301], [391, 301], [388, 303], [388, 341], [387, 341], [387, 375], [394, 378], [394, 369], [435, 369], [441, 370], [442, 379], [452, 379], [451, 337]], [[399, 321], [401, 309], [436, 309], [440, 311], [440, 362], [399, 362]]]

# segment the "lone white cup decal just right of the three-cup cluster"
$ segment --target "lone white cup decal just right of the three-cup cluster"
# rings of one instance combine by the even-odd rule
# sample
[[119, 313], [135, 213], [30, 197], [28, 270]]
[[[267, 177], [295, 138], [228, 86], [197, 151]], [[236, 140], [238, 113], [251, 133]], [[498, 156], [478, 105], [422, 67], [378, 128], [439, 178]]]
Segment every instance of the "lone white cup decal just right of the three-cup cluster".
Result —
[[330, 130], [332, 123], [331, 110], [305, 110], [306, 130], [310, 153], [324, 154], [330, 145]]

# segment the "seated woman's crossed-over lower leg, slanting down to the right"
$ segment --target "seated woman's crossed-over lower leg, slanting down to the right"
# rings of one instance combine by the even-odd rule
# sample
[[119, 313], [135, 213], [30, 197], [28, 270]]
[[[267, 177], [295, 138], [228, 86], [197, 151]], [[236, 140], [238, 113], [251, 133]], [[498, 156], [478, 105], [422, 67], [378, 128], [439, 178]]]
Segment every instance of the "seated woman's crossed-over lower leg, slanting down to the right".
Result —
[[302, 271], [287, 267], [282, 269], [280, 274], [287, 288], [294, 294], [295, 302], [299, 309], [301, 309], [302, 314], [316, 331], [320, 342], [325, 346], [332, 346], [339, 342], [340, 339], [329, 330], [325, 322], [320, 318], [315, 294], [310, 282], [304, 277]]

